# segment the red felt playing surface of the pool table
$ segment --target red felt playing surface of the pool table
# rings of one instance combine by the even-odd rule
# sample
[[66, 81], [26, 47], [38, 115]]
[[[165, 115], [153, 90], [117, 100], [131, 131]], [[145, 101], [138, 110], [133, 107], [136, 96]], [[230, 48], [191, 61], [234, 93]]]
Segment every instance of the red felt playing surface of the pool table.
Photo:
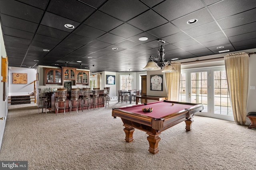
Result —
[[[149, 108], [149, 107], [153, 108], [152, 112], [142, 111], [142, 108]], [[134, 106], [120, 107], [119, 109], [131, 112], [131, 113], [146, 115], [152, 118], [161, 118], [161, 117], [170, 115], [172, 113], [177, 113], [184, 109], [188, 109], [190, 107], [192, 107], [192, 105], [159, 101], [159, 102], [148, 103], [146, 105], [138, 104]]]

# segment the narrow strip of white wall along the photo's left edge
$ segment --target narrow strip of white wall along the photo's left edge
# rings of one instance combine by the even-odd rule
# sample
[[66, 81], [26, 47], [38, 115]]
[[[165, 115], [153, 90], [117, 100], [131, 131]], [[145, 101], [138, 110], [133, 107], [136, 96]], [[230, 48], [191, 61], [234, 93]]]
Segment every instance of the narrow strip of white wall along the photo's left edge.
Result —
[[[0, 25], [0, 30], [2, 30], [1, 25]], [[0, 31], [0, 55], [1, 55], [1, 58], [6, 57], [6, 51], [5, 51], [5, 47], [4, 47], [4, 39], [3, 39], [2, 31]], [[2, 59], [0, 60], [0, 70], [1, 69], [2, 69]], [[7, 85], [7, 83], [6, 83], [6, 85]], [[8, 107], [7, 107], [8, 98], [6, 98], [6, 100], [4, 101], [3, 88], [4, 88], [4, 83], [0, 82], [0, 118], [7, 117], [7, 114], [8, 114]], [[2, 140], [3, 140], [3, 136], [4, 136], [5, 125], [6, 125], [6, 119], [0, 120], [0, 150], [1, 150]]]

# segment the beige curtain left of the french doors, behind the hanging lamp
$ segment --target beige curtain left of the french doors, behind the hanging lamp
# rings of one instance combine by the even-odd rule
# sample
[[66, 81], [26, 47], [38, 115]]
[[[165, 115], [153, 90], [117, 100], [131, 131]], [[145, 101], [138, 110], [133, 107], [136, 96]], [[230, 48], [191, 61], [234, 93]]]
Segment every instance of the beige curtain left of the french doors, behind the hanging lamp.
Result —
[[166, 72], [165, 78], [166, 78], [166, 86], [167, 86], [167, 92], [168, 92], [168, 98], [167, 100], [170, 101], [178, 101], [179, 100], [179, 90], [180, 90], [180, 65], [179, 62], [172, 63], [172, 66], [178, 72]]

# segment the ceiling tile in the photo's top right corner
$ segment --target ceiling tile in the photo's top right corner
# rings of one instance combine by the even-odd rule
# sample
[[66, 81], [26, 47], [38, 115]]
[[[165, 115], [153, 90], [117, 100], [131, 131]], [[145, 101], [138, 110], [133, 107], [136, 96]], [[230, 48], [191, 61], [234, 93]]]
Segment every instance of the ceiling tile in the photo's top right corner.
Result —
[[[256, 1], [252, 0], [224, 0], [209, 6], [210, 12], [216, 20], [238, 14], [255, 8]], [[227, 10], [229, 9], [229, 10]]]

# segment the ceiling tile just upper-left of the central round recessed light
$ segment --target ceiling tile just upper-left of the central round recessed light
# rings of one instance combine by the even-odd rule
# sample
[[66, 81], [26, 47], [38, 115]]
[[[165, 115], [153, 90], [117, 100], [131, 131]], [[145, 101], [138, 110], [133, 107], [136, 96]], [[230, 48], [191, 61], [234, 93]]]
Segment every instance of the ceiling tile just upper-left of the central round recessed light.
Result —
[[140, 30], [128, 23], [124, 23], [110, 31], [110, 33], [118, 35], [120, 37], [124, 37], [124, 38], [130, 38], [130, 37], [137, 35], [139, 33], [142, 33], [142, 32], [143, 32], [142, 30]]

